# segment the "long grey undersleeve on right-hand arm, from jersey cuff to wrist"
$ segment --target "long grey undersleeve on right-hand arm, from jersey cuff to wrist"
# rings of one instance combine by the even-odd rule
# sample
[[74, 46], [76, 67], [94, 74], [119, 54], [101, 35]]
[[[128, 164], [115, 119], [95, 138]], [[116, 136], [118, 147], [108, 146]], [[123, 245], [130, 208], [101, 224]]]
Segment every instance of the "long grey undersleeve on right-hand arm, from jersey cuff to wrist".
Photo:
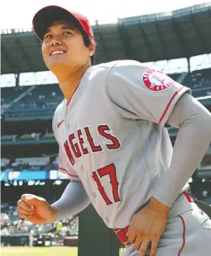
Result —
[[193, 175], [211, 142], [211, 114], [190, 94], [183, 95], [167, 124], [179, 128], [170, 168], [154, 190], [154, 197], [171, 207]]

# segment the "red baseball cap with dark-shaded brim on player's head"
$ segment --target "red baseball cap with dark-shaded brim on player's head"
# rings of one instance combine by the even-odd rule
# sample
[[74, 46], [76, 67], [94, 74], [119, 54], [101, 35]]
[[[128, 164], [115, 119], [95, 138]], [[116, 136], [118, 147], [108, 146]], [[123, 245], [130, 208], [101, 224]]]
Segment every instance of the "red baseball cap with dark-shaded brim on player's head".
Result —
[[58, 5], [49, 5], [38, 10], [32, 20], [33, 30], [35, 31], [37, 38], [43, 41], [44, 34], [54, 21], [59, 19], [68, 20], [70, 18], [73, 18], [73, 20], [78, 22], [83, 31], [85, 31], [85, 34], [90, 38], [92, 45], [95, 46], [92, 27], [89, 24], [87, 17], [76, 11], [66, 10]]

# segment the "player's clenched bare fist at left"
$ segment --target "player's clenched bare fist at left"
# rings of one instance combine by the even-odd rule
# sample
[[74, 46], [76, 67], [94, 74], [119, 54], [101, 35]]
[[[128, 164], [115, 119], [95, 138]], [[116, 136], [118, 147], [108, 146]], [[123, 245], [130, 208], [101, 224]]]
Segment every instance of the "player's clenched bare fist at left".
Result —
[[57, 218], [57, 209], [43, 198], [31, 194], [22, 195], [17, 201], [17, 212], [20, 218], [35, 224], [52, 223]]

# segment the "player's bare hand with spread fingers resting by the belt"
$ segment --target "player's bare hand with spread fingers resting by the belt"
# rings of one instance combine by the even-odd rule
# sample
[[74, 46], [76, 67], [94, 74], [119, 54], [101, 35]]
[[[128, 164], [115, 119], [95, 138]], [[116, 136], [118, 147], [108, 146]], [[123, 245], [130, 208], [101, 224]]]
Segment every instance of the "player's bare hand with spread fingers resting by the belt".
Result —
[[129, 243], [134, 243], [134, 249], [140, 251], [140, 256], [145, 255], [149, 245], [150, 256], [157, 252], [160, 237], [167, 225], [169, 210], [153, 197], [149, 204], [133, 216], [127, 236]]

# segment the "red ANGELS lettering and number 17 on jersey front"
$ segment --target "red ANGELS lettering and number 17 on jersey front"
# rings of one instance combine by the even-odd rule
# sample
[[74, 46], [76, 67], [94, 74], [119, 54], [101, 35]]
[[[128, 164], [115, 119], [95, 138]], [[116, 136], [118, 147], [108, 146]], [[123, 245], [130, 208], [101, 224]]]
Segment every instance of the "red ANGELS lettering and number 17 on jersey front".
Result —
[[[64, 143], [66, 155], [68, 156], [72, 166], [74, 166], [74, 164], [76, 163], [76, 158], [80, 158], [81, 156], [87, 154], [94, 154], [96, 152], [103, 151], [103, 145], [101, 143], [96, 144], [94, 142], [90, 128], [85, 127], [83, 128], [83, 130], [85, 132], [85, 136], [82, 135], [82, 129], [78, 129], [77, 133], [69, 135], [68, 141], [65, 141]], [[102, 136], [103, 143], [105, 144], [105, 148], [107, 150], [114, 150], [120, 148], [120, 142], [118, 138], [111, 134], [111, 129], [108, 127], [108, 125], [99, 125], [97, 131], [98, 134]], [[106, 139], [107, 142], [104, 142], [104, 139]], [[88, 147], [85, 147], [85, 144], [87, 144], [87, 142], [90, 146], [91, 151], [89, 151]], [[71, 149], [69, 147], [69, 144], [71, 145]], [[100, 181], [100, 178], [102, 178], [103, 176], [110, 177], [110, 183], [112, 184], [111, 199], [105, 193], [105, 189]], [[93, 171], [92, 178], [97, 184], [99, 193], [104, 199], [106, 205], [120, 201], [118, 192], [119, 183], [117, 180], [116, 167], [113, 163], [108, 164], [107, 166], [104, 166], [103, 168], [96, 171]]]

